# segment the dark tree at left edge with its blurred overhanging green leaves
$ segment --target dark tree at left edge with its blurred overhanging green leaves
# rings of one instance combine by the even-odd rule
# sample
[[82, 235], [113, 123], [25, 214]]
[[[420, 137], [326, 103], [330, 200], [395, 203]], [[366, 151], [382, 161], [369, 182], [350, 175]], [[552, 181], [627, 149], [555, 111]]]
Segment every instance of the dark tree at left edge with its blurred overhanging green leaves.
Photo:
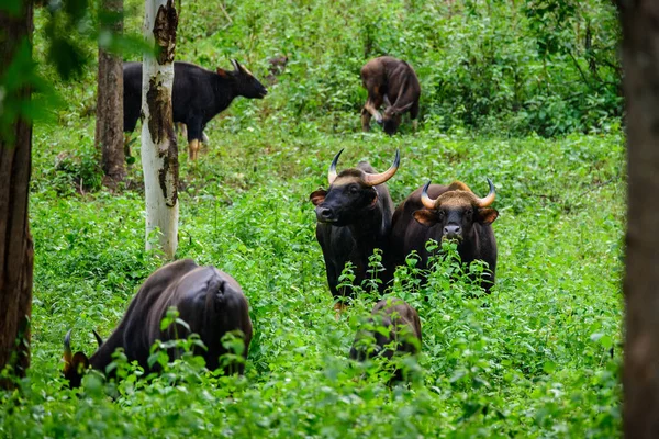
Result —
[[[14, 376], [24, 376], [30, 365], [32, 125], [58, 102], [53, 83], [41, 76], [33, 57], [34, 8], [40, 5], [31, 0], [0, 4], [0, 370], [9, 367], [9, 375]], [[108, 47], [126, 45], [108, 30], [99, 33], [97, 8], [87, 0], [49, 2], [43, 8], [47, 11], [43, 61], [63, 81], [75, 80], [83, 71], [91, 61], [90, 42], [99, 35]], [[12, 380], [2, 380], [0, 385], [9, 387]]]

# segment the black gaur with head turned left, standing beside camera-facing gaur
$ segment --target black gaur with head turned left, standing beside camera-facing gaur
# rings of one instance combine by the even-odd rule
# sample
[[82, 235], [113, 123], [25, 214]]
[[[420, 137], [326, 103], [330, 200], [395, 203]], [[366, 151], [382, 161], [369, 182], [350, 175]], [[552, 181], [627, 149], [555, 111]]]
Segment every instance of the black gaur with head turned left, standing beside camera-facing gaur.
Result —
[[[330, 188], [312, 192], [309, 199], [316, 206], [316, 238], [323, 249], [327, 283], [332, 295], [345, 296], [345, 289], [338, 290], [338, 277], [346, 262], [355, 268], [356, 285], [367, 278], [368, 258], [376, 248], [388, 255], [388, 239], [391, 230], [393, 202], [384, 182], [399, 168], [400, 153], [395, 151], [393, 165], [381, 173], [367, 162], [357, 168], [336, 173], [336, 164], [343, 149], [332, 160], [327, 175]], [[380, 272], [381, 290], [391, 278], [389, 272]], [[337, 308], [340, 305], [337, 303]]]

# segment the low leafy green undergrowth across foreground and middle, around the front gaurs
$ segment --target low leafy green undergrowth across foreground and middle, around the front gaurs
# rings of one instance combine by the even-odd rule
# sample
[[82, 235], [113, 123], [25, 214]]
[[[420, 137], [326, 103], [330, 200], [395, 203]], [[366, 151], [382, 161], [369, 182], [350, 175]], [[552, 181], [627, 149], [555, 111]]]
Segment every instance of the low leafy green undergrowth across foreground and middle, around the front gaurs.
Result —
[[[186, 357], [147, 382], [120, 361], [129, 379], [90, 375], [77, 395], [59, 375], [65, 333], [74, 328], [74, 349], [91, 353], [91, 329], [109, 336], [160, 262], [143, 249], [139, 164], [133, 189], [80, 193], [57, 177], [56, 156], [77, 146], [81, 157], [93, 154], [93, 126], [69, 130], [35, 132], [33, 359], [23, 392], [2, 395], [2, 436], [617, 435], [622, 135], [336, 135], [273, 119], [236, 133], [214, 125], [198, 162], [181, 155], [177, 257], [214, 264], [243, 285], [255, 327], [245, 375], [216, 376]], [[427, 286], [410, 282], [414, 259], [398, 273], [390, 294], [415, 306], [423, 326], [409, 385], [389, 387], [377, 364], [347, 358], [372, 295], [359, 294], [335, 319], [308, 196], [326, 185], [340, 148], [339, 168], [368, 159], [377, 169], [400, 148], [389, 182], [395, 203], [431, 178], [460, 179], [479, 194], [485, 177], [496, 184], [491, 295], [456, 274], [450, 258]]]

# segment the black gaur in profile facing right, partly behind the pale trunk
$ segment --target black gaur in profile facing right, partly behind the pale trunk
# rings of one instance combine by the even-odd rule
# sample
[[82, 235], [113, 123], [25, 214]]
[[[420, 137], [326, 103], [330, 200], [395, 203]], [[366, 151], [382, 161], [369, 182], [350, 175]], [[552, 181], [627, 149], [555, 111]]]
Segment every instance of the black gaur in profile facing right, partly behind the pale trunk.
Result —
[[[174, 63], [171, 95], [174, 122], [188, 127], [189, 158], [196, 160], [209, 121], [237, 97], [263, 99], [268, 90], [232, 59], [234, 70], [206, 70], [189, 63]], [[124, 63], [124, 132], [132, 133], [142, 113], [142, 63]]]

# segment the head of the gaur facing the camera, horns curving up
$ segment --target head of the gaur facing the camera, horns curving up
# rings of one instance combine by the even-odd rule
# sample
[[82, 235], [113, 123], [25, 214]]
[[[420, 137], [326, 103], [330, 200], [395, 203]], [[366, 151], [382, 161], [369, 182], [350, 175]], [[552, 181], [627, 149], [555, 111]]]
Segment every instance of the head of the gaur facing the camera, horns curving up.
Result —
[[425, 209], [414, 212], [414, 219], [431, 227], [442, 227], [442, 239], [462, 240], [470, 236], [474, 223], [492, 224], [499, 212], [488, 206], [494, 202], [494, 184], [488, 179], [490, 192], [485, 198], [478, 198], [467, 184], [453, 182], [446, 192], [436, 200], [428, 196], [428, 181], [421, 193], [421, 202]]

